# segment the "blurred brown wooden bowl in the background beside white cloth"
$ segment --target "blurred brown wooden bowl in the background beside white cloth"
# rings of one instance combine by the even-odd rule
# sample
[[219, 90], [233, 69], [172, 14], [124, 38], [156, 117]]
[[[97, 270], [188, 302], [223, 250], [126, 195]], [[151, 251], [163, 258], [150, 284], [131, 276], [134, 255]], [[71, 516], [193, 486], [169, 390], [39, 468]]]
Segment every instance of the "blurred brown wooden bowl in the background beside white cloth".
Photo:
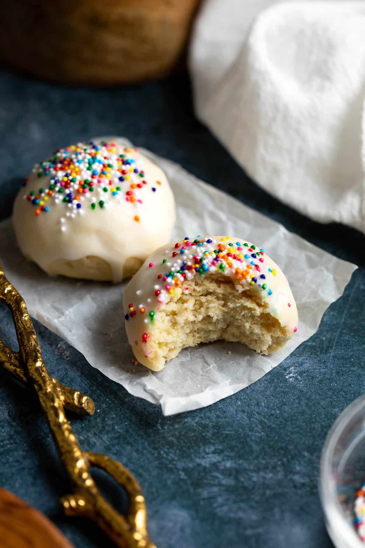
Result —
[[65, 84], [167, 75], [199, 0], [14, 0], [0, 18], [0, 62]]

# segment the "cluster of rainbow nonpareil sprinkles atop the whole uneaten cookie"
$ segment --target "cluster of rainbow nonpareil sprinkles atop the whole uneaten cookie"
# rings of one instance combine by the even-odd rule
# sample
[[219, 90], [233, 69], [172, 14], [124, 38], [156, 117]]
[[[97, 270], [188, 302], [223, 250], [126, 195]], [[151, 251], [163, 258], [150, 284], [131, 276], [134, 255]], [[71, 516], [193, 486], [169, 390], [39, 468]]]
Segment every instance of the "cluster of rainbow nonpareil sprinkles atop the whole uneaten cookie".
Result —
[[[48, 161], [34, 166], [40, 186], [38, 192], [32, 190], [25, 198], [36, 216], [55, 206], [65, 207], [66, 216], [71, 218], [83, 214], [85, 208], [107, 209], [122, 201], [138, 208], [143, 193], [156, 192], [161, 182], [145, 179], [143, 160], [136, 159], [137, 152], [125, 148], [120, 153], [115, 142], [106, 141], [57, 149]], [[47, 184], [42, 186], [45, 178]], [[140, 222], [140, 215], [134, 215], [134, 221]]]

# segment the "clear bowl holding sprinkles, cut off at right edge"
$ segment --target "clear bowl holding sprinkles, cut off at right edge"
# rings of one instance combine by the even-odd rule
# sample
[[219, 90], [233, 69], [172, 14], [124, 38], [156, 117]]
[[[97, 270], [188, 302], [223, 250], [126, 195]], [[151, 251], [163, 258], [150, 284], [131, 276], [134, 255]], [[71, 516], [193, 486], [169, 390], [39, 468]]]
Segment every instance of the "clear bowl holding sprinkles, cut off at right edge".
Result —
[[320, 496], [337, 548], [365, 548], [355, 528], [356, 493], [365, 481], [365, 396], [340, 414], [321, 456]]

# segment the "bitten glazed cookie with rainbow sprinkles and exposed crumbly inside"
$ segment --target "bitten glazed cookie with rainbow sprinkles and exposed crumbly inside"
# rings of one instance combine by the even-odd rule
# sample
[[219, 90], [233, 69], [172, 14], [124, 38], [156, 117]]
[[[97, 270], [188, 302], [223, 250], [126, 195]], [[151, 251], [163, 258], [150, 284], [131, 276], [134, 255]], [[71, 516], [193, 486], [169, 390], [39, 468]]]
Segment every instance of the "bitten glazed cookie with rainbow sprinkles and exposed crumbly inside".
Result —
[[183, 348], [220, 339], [270, 354], [298, 324], [279, 266], [264, 249], [228, 236], [160, 247], [128, 283], [123, 306], [134, 355], [154, 371]]

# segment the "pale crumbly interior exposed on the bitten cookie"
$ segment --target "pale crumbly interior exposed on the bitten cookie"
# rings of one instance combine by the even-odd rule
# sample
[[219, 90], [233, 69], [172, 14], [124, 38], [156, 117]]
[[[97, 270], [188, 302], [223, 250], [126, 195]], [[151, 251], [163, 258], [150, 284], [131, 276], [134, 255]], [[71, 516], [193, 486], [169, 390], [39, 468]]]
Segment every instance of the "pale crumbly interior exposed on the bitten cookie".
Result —
[[223, 275], [199, 276], [186, 282], [187, 294], [177, 292], [161, 306], [149, 336], [155, 366], [199, 343], [239, 342], [262, 354], [277, 352], [288, 340], [279, 321], [259, 296]]

